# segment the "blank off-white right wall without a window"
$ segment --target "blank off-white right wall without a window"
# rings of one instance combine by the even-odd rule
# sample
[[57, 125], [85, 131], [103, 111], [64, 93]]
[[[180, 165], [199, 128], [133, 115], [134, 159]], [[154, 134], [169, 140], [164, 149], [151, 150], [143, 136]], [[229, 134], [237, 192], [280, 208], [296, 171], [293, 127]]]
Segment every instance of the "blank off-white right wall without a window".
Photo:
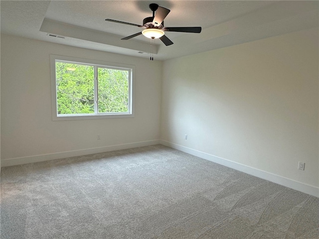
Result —
[[161, 140], [318, 192], [318, 67], [318, 29], [167, 60]]

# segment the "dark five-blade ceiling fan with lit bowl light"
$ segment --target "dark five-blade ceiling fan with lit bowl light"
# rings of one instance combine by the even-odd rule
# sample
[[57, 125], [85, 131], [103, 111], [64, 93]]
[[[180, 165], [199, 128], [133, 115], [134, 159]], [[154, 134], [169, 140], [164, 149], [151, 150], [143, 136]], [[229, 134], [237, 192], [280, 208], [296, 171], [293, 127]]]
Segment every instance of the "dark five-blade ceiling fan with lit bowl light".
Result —
[[124, 37], [121, 40], [128, 40], [143, 34], [144, 36], [151, 39], [160, 38], [160, 40], [166, 46], [173, 44], [173, 42], [169, 40], [167, 36], [164, 35], [165, 31], [192, 32], [192, 33], [201, 32], [200, 26], [198, 27], [164, 27], [163, 20], [167, 16], [167, 14], [170, 12], [170, 10], [165, 7], [161, 7], [156, 3], [151, 3], [150, 9], [153, 11], [153, 16], [144, 18], [143, 25], [138, 25], [138, 24], [124, 22], [124, 21], [118, 21], [113, 19], [105, 19], [105, 20], [145, 28], [143, 31], [133, 34], [131, 36]]

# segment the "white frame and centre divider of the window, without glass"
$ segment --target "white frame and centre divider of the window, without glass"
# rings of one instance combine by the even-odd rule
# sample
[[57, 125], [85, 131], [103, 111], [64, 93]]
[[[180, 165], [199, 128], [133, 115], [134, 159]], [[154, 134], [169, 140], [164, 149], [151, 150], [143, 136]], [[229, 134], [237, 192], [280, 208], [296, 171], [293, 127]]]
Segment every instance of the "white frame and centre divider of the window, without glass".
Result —
[[[128, 70], [129, 71], [129, 111], [127, 113], [98, 113], [95, 110], [94, 114], [72, 114], [72, 115], [58, 115], [57, 109], [57, 88], [56, 88], [56, 77], [55, 77], [55, 63], [56, 62], [70, 62], [75, 64], [91, 65], [101, 68], [118, 69], [118, 70]], [[109, 119], [109, 118], [130, 118], [134, 117], [134, 72], [135, 66], [111, 63], [97, 60], [89, 60], [75, 57], [50, 55], [50, 65], [51, 65], [51, 97], [52, 97], [52, 120], [77, 120], [77, 119]], [[96, 72], [95, 72], [96, 73]], [[97, 107], [97, 79], [94, 79], [94, 104], [95, 109]]]

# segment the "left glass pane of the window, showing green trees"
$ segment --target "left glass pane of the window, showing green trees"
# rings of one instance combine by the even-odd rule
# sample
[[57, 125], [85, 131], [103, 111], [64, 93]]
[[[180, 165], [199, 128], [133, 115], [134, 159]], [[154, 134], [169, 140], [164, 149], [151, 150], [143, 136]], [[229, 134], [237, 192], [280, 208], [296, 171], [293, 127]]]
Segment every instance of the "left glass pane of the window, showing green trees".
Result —
[[94, 113], [94, 67], [65, 62], [55, 63], [57, 112]]

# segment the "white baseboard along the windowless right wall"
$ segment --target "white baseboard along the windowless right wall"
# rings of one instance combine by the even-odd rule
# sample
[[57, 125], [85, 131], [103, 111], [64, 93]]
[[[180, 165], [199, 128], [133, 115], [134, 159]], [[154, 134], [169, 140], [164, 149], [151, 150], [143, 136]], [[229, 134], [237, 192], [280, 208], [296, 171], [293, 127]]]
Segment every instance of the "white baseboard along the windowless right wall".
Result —
[[273, 173], [269, 173], [269, 172], [266, 172], [266, 171], [263, 171], [263, 170], [260, 170], [257, 168], [252, 168], [252, 167], [246, 166], [244, 164], [236, 163], [234, 161], [220, 158], [220, 157], [208, 154], [208, 153], [204, 153], [204, 152], [201, 152], [201, 151], [198, 151], [195, 149], [191, 149], [191, 148], [179, 145], [179, 144], [171, 143], [171, 142], [168, 142], [165, 140], [160, 140], [160, 144], [177, 149], [179, 151], [182, 151], [182, 152], [194, 155], [194, 156], [197, 156], [197, 157], [200, 157], [200, 158], [203, 158], [203, 159], [206, 159], [206, 160], [209, 160], [209, 161], [212, 161], [214, 163], [218, 163], [218, 164], [227, 166], [229, 168], [236, 169], [238, 171], [256, 176], [258, 178], [266, 179], [268, 181], [283, 185], [285, 187], [292, 188], [294, 190], [297, 190], [297, 191], [300, 191], [303, 193], [307, 193], [307, 194], [313, 195], [315, 197], [319, 197], [319, 188], [317, 188], [315, 186], [301, 183], [301, 182], [298, 182], [298, 181], [295, 181], [295, 180], [292, 180], [289, 178], [285, 178], [285, 177], [282, 177], [282, 176], [279, 176], [279, 175], [276, 175]]

